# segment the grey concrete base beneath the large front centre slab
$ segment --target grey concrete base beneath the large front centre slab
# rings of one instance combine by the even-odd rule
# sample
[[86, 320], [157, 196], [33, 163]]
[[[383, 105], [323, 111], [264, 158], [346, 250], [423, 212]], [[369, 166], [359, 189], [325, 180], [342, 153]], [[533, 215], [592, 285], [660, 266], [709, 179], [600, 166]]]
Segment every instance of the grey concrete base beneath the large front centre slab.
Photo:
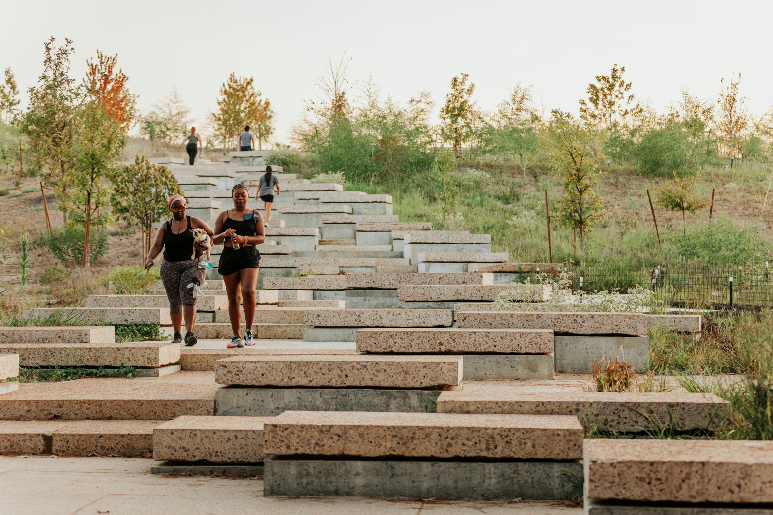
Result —
[[564, 500], [577, 494], [572, 473], [582, 480], [582, 465], [271, 456], [264, 461], [264, 495]]

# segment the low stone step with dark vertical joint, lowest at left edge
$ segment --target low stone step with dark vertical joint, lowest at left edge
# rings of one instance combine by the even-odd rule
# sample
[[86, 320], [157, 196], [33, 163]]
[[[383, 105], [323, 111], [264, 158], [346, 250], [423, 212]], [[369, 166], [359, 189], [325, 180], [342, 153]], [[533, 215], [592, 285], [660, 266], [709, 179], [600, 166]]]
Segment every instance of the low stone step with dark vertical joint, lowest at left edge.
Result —
[[0, 452], [78, 456], [145, 456], [155, 420], [0, 421]]

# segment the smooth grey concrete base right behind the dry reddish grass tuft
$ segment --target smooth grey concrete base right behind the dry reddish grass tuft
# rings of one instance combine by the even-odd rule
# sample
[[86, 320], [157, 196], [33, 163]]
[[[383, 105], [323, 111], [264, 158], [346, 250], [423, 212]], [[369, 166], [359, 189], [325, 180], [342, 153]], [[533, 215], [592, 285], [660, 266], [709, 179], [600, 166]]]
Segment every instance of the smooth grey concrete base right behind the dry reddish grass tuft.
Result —
[[635, 370], [649, 370], [647, 336], [556, 336], [553, 339], [556, 370], [590, 372], [604, 357], [627, 361]]

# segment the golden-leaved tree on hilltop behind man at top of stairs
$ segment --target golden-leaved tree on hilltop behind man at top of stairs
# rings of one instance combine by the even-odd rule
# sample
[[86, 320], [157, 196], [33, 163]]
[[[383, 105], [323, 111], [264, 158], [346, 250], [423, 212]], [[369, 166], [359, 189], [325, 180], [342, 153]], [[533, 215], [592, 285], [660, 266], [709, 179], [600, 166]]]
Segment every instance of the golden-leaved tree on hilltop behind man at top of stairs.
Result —
[[261, 99], [261, 91], [256, 91], [254, 84], [254, 77], [237, 77], [236, 73], [231, 73], [220, 87], [218, 110], [210, 113], [210, 117], [215, 134], [223, 138], [223, 148], [228, 147], [229, 142], [235, 145], [245, 125], [255, 128], [263, 124], [261, 131], [264, 134], [271, 128], [271, 124], [267, 124], [271, 103]]

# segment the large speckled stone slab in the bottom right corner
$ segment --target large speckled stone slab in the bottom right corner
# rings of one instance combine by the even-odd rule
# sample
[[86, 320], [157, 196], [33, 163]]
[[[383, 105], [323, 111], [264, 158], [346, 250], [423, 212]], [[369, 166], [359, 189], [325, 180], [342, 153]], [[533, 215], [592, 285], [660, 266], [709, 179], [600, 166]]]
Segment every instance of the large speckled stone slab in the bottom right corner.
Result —
[[583, 461], [589, 499], [773, 503], [773, 442], [594, 439]]

